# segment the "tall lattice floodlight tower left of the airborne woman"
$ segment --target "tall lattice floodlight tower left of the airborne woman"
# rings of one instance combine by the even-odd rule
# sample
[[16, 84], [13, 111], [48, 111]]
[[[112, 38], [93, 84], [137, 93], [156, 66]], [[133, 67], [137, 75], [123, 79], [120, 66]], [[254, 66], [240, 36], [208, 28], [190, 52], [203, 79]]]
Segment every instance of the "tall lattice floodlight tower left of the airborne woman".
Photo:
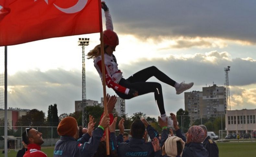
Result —
[[89, 45], [89, 38], [78, 38], [78, 46], [82, 47], [82, 126], [87, 127], [86, 109], [86, 80], [85, 80], [85, 46]]

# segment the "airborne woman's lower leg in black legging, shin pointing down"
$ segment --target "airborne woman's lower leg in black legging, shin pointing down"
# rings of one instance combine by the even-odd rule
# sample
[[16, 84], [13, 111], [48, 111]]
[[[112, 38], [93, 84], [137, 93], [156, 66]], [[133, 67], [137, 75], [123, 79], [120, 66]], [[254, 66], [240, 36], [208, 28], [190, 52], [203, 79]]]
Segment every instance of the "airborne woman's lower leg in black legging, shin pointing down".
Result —
[[[161, 115], [165, 114], [164, 109], [164, 100], [163, 100], [163, 93], [162, 93], [162, 86], [156, 82], [135, 82], [129, 83], [127, 80], [119, 82], [120, 85], [123, 85], [127, 88], [133, 88], [134, 90], [138, 91], [138, 95], [144, 95], [147, 93], [154, 92], [155, 101], [157, 103], [157, 107]], [[118, 96], [123, 99], [131, 99], [132, 96], [125, 95], [120, 92], [116, 92]]]

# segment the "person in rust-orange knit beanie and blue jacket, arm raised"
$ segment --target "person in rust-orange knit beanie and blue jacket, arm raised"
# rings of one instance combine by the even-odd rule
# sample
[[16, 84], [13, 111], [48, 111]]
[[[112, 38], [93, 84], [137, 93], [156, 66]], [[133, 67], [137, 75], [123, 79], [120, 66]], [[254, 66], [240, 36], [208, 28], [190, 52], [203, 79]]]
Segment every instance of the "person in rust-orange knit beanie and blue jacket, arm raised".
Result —
[[91, 157], [99, 146], [100, 139], [103, 136], [104, 129], [109, 126], [109, 115], [105, 115], [99, 126], [93, 131], [88, 142], [80, 143], [77, 141], [79, 137], [79, 127], [76, 119], [66, 117], [61, 120], [58, 125], [57, 132], [61, 136], [54, 147], [54, 157]]

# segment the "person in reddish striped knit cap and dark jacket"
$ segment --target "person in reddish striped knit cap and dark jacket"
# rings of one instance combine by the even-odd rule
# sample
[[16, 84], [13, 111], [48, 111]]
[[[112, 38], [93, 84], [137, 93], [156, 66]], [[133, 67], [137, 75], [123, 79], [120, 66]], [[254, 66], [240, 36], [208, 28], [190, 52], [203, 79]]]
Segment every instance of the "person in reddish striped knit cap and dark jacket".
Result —
[[204, 148], [204, 130], [199, 126], [192, 126], [186, 133], [187, 142], [182, 157], [209, 157], [208, 151]]

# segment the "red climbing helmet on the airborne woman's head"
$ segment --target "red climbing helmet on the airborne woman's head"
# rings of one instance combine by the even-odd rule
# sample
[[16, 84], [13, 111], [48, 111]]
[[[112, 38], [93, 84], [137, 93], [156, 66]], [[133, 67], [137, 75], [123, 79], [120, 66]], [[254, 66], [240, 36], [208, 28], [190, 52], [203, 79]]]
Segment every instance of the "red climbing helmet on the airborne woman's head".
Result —
[[117, 34], [110, 29], [103, 31], [103, 41], [104, 44], [107, 44], [109, 46], [117, 46], [119, 44]]

